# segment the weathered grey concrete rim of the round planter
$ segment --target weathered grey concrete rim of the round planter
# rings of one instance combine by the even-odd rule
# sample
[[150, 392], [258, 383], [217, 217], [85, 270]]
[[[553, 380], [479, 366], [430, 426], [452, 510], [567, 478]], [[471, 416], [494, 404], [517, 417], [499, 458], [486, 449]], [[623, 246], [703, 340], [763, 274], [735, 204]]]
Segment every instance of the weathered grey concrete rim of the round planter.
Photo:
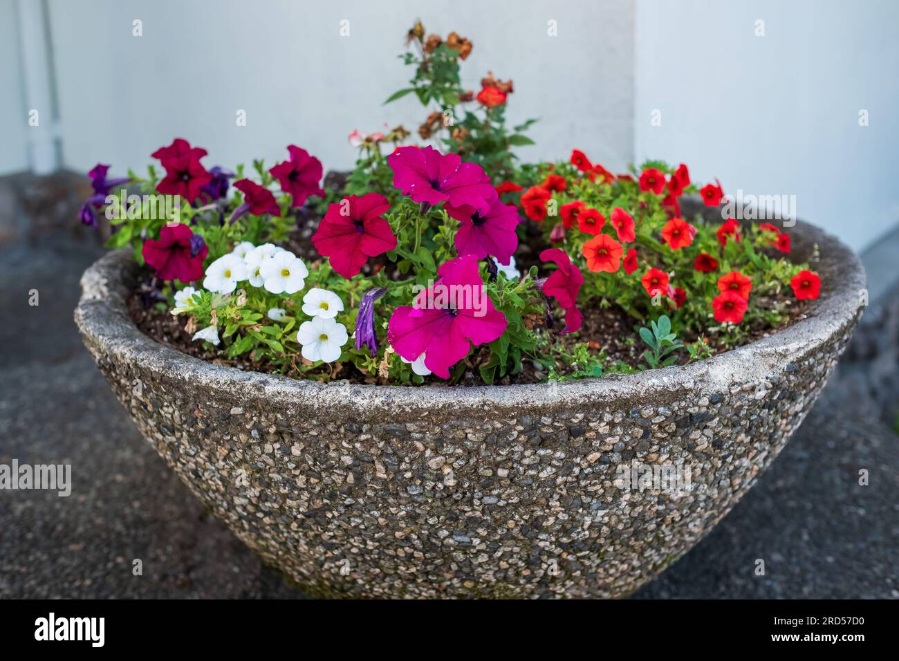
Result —
[[[221, 389], [241, 401], [263, 399], [321, 408], [332, 413], [370, 419], [378, 412], [415, 412], [428, 415], [437, 407], [445, 415], [465, 415], [483, 410], [572, 408], [579, 403], [608, 400], [616, 407], [640, 407], [652, 402], [682, 398], [685, 391], [726, 392], [734, 383], [766, 380], [772, 374], [795, 369], [823, 344], [851, 326], [863, 308], [859, 291], [866, 286], [865, 272], [848, 246], [806, 222], [791, 228], [794, 255], [810, 255], [820, 249], [813, 268], [821, 275], [822, 290], [808, 316], [752, 344], [690, 365], [636, 374], [616, 374], [601, 379], [510, 386], [379, 386], [319, 383], [280, 374], [242, 371], [195, 358], [144, 335], [131, 321], [127, 309], [133, 257], [128, 249], [112, 251], [91, 265], [81, 279], [82, 295], [75, 320], [85, 343], [113, 360], [162, 372], [185, 385]], [[790, 365], [793, 365], [791, 368]]]

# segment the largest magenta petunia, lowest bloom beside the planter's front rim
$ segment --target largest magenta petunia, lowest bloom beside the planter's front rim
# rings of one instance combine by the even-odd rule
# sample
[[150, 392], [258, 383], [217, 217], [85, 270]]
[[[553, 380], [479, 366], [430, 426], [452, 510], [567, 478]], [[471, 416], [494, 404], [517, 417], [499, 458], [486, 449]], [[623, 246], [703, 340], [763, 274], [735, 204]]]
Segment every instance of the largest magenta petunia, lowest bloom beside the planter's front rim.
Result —
[[475, 255], [450, 260], [438, 274], [441, 279], [423, 290], [412, 306], [394, 310], [387, 342], [407, 361], [424, 353], [425, 367], [449, 379], [449, 368], [465, 358], [472, 345], [503, 335], [506, 318], [487, 296]]

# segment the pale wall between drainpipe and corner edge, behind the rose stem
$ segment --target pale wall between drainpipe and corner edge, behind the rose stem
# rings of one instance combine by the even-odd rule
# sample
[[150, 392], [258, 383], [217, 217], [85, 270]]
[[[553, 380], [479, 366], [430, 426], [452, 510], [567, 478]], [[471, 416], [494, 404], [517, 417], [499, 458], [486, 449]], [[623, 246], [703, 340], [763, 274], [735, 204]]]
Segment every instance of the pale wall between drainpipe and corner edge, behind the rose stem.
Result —
[[[508, 117], [540, 117], [527, 160], [580, 147], [609, 166], [633, 158], [633, 5], [628, 0], [50, 0], [65, 164], [143, 166], [176, 136], [209, 150], [208, 165], [282, 159], [296, 143], [325, 169], [349, 168], [353, 129], [427, 112], [413, 96], [388, 106], [411, 76], [398, 55], [416, 17], [474, 42], [462, 63], [479, 89], [488, 69], [512, 78]], [[133, 37], [132, 21], [143, 21]], [[340, 21], [351, 36], [341, 37]], [[558, 36], [547, 36], [547, 21]], [[586, 74], [586, 75], [585, 75]], [[235, 113], [247, 112], [236, 127]]]

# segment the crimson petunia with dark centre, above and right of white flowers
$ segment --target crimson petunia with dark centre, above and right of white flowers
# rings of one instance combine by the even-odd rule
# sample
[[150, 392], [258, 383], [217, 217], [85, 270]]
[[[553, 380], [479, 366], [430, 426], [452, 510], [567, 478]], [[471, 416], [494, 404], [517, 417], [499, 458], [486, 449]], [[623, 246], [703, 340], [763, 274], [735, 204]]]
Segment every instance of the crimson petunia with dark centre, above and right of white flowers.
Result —
[[396, 248], [396, 237], [381, 218], [389, 208], [387, 198], [377, 192], [334, 202], [312, 235], [312, 244], [321, 255], [331, 258], [334, 271], [349, 280], [369, 257]]

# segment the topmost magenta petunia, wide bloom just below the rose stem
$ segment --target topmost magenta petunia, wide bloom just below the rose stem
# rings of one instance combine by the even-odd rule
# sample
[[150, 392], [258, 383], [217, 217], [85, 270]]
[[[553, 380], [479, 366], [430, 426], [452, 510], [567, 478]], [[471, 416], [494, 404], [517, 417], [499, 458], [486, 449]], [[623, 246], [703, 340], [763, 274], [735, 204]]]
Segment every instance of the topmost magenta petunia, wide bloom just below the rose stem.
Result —
[[433, 147], [398, 147], [387, 156], [394, 186], [416, 202], [474, 207], [488, 213], [499, 197], [484, 168], [462, 163], [458, 154], [443, 155]]

